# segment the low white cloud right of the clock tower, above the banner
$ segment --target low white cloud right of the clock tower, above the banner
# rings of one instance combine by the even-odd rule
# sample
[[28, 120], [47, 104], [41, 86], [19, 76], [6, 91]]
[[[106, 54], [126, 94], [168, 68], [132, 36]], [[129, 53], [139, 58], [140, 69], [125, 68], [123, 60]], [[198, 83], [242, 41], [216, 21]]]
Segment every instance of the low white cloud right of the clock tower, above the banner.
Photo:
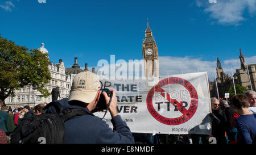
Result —
[[[217, 59], [217, 58], [216, 58]], [[229, 76], [236, 72], [236, 69], [241, 68], [240, 59], [220, 60], [221, 66], [226, 74]], [[255, 64], [256, 56], [245, 57], [246, 64]], [[159, 57], [159, 71], [160, 76], [167, 74], [185, 74], [196, 72], [207, 72], [210, 81], [213, 81], [214, 74], [216, 74], [217, 61], [203, 61], [201, 58], [191, 57]], [[215, 69], [215, 70], [214, 70]]]

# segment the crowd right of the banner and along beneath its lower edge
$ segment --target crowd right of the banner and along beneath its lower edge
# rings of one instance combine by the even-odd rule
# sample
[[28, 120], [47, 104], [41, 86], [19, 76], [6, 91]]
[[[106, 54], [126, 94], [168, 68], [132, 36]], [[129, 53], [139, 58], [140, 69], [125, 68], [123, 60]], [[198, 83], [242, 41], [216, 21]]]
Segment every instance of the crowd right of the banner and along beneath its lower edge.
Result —
[[[212, 143], [210, 137], [214, 137], [217, 144], [256, 143], [255, 91], [249, 90], [244, 95], [235, 95], [230, 101], [210, 98], [210, 102], [212, 135], [157, 135], [158, 141], [172, 144], [209, 144]], [[152, 134], [149, 136], [152, 139]]]

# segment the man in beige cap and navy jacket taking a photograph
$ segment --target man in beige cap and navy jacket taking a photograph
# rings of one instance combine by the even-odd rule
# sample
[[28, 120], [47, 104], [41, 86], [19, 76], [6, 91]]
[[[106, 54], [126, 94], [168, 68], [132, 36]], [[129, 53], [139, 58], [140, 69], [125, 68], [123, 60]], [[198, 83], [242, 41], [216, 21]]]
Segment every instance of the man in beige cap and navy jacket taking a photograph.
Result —
[[[101, 85], [95, 73], [85, 71], [73, 79], [69, 98], [55, 100], [64, 109], [81, 108], [89, 115], [75, 116], [65, 122], [65, 143], [67, 144], [134, 144], [130, 128], [117, 113], [116, 91], [113, 91], [109, 112], [112, 116], [113, 129], [104, 120], [94, 116], [92, 111], [101, 95]], [[103, 92], [106, 104], [110, 97]], [[47, 113], [56, 114], [54, 107], [49, 107]]]

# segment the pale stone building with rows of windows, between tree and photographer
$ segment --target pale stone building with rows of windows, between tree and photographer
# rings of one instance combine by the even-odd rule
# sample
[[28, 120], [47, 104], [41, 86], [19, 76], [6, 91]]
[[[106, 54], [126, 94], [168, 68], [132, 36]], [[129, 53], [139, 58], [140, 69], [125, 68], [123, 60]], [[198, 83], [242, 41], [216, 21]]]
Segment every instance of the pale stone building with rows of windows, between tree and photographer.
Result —
[[[39, 50], [42, 53], [48, 53], [47, 49], [44, 48], [43, 43]], [[51, 73], [51, 80], [46, 84], [46, 89], [51, 93], [52, 89], [58, 86], [60, 90], [60, 98], [58, 99], [67, 98], [69, 96], [69, 91], [71, 90], [72, 77], [75, 77], [76, 74], [66, 74], [67, 68], [65, 68], [64, 62], [61, 59], [59, 60], [59, 63], [52, 63], [49, 65], [48, 69]], [[42, 94], [40, 91], [34, 90], [32, 85], [27, 85], [18, 90], [14, 90], [14, 94], [13, 97], [10, 96], [5, 99], [7, 107], [15, 108], [16, 106], [23, 107], [26, 105], [34, 107], [39, 103], [49, 103], [52, 101], [51, 95], [47, 98], [41, 97]]]

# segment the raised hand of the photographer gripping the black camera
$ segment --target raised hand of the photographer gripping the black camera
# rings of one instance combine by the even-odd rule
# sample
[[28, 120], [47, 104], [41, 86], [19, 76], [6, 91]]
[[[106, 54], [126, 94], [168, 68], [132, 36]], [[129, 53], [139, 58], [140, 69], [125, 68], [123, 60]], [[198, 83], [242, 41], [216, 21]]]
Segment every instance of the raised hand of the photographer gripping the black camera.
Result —
[[[111, 103], [109, 105], [109, 112], [110, 112], [110, 115], [112, 118], [114, 118], [114, 116], [117, 116], [118, 113], [117, 113], [117, 97], [115, 96], [116, 94], [116, 91], [113, 90], [113, 89], [110, 89], [110, 91], [113, 92], [113, 96], [112, 96], [112, 100], [111, 100]], [[102, 93], [105, 97], [105, 100], [106, 100], [106, 104], [109, 103], [109, 100], [110, 100], [110, 97], [108, 97], [108, 94], [106, 94], [106, 92], [103, 92]], [[107, 105], [108, 106], [108, 105]]]

